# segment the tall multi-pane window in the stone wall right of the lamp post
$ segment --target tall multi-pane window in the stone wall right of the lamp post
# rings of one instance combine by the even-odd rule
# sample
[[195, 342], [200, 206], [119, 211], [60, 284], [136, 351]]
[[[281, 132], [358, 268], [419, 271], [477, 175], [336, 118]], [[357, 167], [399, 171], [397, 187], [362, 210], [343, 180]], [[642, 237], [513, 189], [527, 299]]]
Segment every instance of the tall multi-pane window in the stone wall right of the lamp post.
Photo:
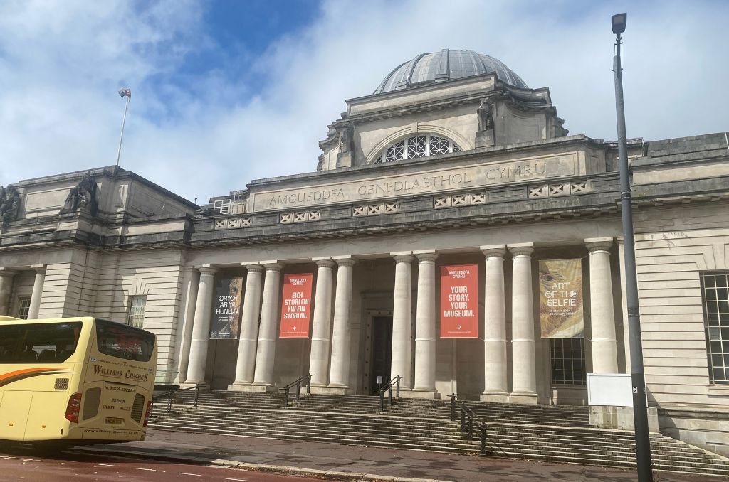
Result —
[[729, 384], [729, 272], [701, 274], [709, 380]]

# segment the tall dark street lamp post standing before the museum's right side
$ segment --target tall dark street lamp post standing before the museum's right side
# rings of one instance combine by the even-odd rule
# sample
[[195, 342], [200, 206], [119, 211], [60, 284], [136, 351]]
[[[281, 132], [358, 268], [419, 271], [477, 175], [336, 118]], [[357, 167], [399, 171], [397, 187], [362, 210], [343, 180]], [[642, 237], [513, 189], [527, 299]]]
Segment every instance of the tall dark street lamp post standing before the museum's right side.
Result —
[[639, 482], [653, 480], [650, 462], [650, 435], [648, 408], [643, 368], [643, 346], [640, 332], [638, 305], [638, 275], [636, 274], [635, 234], [631, 208], [631, 180], [628, 173], [628, 142], [625, 136], [625, 105], [623, 104], [623, 66], [620, 63], [620, 34], [625, 31], [628, 14], [612, 16], [615, 40], [615, 112], [617, 116], [617, 156], [620, 160], [620, 208], [623, 218], [623, 246], [625, 249], [625, 301], [628, 305], [628, 333], [631, 346], [631, 379], [633, 381], [633, 416], [636, 434], [636, 461]]

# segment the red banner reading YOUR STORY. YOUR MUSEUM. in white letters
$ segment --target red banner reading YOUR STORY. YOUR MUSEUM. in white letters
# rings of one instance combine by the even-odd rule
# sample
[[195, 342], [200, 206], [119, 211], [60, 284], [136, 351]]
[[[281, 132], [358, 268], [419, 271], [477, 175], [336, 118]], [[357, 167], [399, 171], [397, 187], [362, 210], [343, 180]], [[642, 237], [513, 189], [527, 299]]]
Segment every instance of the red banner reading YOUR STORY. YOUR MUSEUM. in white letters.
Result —
[[440, 266], [440, 338], [478, 338], [478, 266]]

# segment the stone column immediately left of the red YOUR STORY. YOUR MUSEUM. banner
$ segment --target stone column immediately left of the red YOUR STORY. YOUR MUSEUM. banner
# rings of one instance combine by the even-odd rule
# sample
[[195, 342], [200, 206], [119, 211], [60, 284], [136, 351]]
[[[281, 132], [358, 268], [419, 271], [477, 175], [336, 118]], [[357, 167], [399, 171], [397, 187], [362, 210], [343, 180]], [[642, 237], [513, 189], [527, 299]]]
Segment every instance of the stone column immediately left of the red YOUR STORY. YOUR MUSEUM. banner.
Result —
[[435, 250], [416, 251], [418, 305], [415, 330], [415, 387], [413, 392], [435, 394]]

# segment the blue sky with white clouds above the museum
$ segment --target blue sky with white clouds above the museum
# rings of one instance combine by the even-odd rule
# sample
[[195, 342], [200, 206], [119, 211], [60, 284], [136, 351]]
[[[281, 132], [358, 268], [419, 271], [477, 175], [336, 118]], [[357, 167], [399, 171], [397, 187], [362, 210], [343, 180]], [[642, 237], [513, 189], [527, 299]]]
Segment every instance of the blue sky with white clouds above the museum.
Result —
[[0, 2], [0, 184], [113, 165], [188, 199], [316, 169], [346, 98], [421, 52], [492, 55], [615, 139], [609, 17], [628, 12], [628, 136], [729, 130], [729, 2]]

